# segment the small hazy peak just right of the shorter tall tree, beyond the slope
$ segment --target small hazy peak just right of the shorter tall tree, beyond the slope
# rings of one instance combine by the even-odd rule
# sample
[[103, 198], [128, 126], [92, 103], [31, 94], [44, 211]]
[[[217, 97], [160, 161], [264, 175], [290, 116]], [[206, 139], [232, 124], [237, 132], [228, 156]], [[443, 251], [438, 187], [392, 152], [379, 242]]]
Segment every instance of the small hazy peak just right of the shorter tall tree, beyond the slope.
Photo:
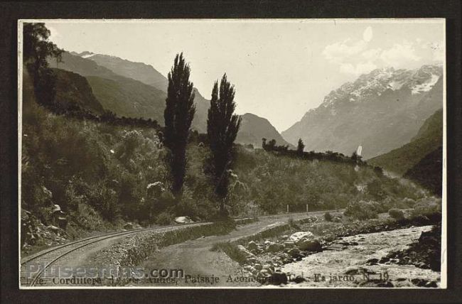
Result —
[[294, 148], [290, 143], [285, 141], [281, 134], [269, 123], [268, 119], [264, 119], [257, 115], [246, 113], [241, 115], [242, 123], [239, 133], [237, 134], [236, 142], [243, 144], [252, 144], [255, 148], [262, 147], [262, 139], [268, 141], [276, 140], [276, 145]]

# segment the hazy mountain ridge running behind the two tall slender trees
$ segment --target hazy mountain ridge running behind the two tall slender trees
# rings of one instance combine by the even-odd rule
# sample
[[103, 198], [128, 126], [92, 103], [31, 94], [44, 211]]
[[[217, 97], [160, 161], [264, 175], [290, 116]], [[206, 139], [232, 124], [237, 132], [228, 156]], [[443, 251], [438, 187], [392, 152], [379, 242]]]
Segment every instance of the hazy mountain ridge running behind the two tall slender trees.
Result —
[[[118, 116], [156, 119], [163, 125], [168, 80], [151, 65], [90, 52], [65, 52], [62, 63], [57, 64], [55, 60], [48, 60], [48, 63], [52, 67], [87, 77], [93, 94], [104, 109]], [[205, 133], [210, 101], [198, 89], [194, 89], [194, 94], [196, 112], [192, 127], [199, 133]], [[267, 119], [253, 114], [245, 114], [243, 118], [237, 143], [262, 146], [262, 138], [265, 137], [269, 140], [276, 139], [278, 145], [289, 144], [294, 148]]]

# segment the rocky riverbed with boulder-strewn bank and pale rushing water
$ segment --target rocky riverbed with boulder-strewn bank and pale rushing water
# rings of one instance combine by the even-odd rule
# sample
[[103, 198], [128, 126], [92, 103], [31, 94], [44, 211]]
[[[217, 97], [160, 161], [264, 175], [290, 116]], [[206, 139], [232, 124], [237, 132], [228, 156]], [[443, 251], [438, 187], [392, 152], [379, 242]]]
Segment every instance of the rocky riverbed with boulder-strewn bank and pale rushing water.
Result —
[[[369, 287], [438, 286], [439, 273], [431, 269], [421, 269], [431, 268], [430, 266], [426, 267], [429, 264], [439, 264], [439, 259], [433, 261], [434, 256], [438, 255], [436, 248], [428, 248], [429, 242], [433, 241], [431, 244], [438, 246], [437, 242], [433, 238], [429, 241], [428, 237], [421, 237], [421, 235], [426, 236], [431, 229], [431, 226], [428, 225], [431, 224], [429, 219], [418, 217], [397, 221], [383, 215], [379, 219], [352, 221], [342, 218], [340, 214], [334, 215], [333, 218], [337, 220], [327, 222], [321, 217], [313, 217], [303, 223], [292, 223], [289, 233], [279, 237], [255, 238], [250, 241], [246, 239], [245, 241], [236, 241], [234, 244], [218, 244], [218, 247], [232, 259], [242, 264], [246, 276], [252, 276], [262, 284], [289, 283], [292, 285], [295, 283], [301, 284], [300, 286], [326, 287], [345, 285]], [[427, 225], [421, 226], [422, 224]], [[407, 250], [409, 245], [414, 246], [412, 243], [417, 241], [419, 237], [426, 239], [426, 241], [421, 242], [421, 245], [418, 245], [420, 249], [416, 249], [419, 254], [412, 253], [411, 249]], [[441, 239], [441, 237], [434, 237]], [[392, 252], [392, 249], [400, 249], [400, 251]], [[421, 264], [425, 263], [421, 261], [424, 256], [423, 251], [426, 253], [431, 251], [433, 255], [428, 258], [431, 262]], [[350, 259], [349, 255], [354, 256], [354, 258]], [[397, 257], [390, 258], [389, 256], [392, 255]], [[329, 256], [332, 257], [333, 261]], [[399, 259], [399, 257], [401, 258]], [[345, 261], [345, 263], [340, 263], [341, 266], [335, 266], [337, 261]], [[322, 271], [320, 269], [321, 272], [313, 272], [313, 266], [319, 266], [319, 264], [325, 264], [321, 267]], [[425, 267], [421, 267], [421, 271], [414, 269], [422, 265]], [[393, 277], [387, 270], [388, 268], [390, 268]], [[405, 268], [408, 269], [404, 270]], [[307, 277], [308, 273], [311, 274]], [[350, 280], [352, 276], [372, 278], [366, 281], [353, 280], [346, 283], [336, 283], [330, 278], [320, 283], [314, 282], [315, 273], [324, 277], [347, 276]], [[321, 278], [316, 279], [321, 280]]]

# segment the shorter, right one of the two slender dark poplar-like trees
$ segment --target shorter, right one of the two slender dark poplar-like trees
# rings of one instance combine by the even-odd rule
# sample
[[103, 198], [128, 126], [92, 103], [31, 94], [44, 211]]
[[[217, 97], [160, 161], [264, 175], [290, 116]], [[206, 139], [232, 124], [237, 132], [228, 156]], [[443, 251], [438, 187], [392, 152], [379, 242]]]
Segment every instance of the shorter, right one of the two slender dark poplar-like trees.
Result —
[[234, 114], [236, 104], [234, 101], [235, 88], [223, 75], [218, 89], [215, 82], [212, 89], [210, 109], [208, 109], [207, 135], [212, 152], [213, 173], [215, 179], [215, 193], [220, 197], [220, 211], [225, 211], [225, 197], [229, 183], [227, 170], [232, 161], [232, 144], [241, 124], [241, 117]]

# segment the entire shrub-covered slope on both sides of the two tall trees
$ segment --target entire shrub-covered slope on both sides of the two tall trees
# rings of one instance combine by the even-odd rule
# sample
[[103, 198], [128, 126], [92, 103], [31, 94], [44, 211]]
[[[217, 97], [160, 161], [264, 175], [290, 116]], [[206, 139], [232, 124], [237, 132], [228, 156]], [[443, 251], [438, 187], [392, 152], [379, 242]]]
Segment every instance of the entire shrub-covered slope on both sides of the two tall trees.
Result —
[[[56, 100], [67, 98], [59, 93]], [[36, 102], [25, 73], [22, 207], [46, 224], [51, 207], [60, 205], [70, 227], [88, 230], [123, 220], [168, 224], [173, 207], [177, 214], [212, 219], [220, 202], [205, 173], [210, 150], [199, 138], [188, 143], [183, 195], [175, 207], [167, 151], [156, 129], [53, 114]], [[291, 212], [306, 210], [306, 204], [309, 210], [330, 210], [359, 201], [386, 204], [388, 210], [409, 207], [399, 204], [425, 195], [364, 163], [301, 159], [239, 145], [234, 154], [225, 203], [235, 216], [285, 212], [286, 205]]]

